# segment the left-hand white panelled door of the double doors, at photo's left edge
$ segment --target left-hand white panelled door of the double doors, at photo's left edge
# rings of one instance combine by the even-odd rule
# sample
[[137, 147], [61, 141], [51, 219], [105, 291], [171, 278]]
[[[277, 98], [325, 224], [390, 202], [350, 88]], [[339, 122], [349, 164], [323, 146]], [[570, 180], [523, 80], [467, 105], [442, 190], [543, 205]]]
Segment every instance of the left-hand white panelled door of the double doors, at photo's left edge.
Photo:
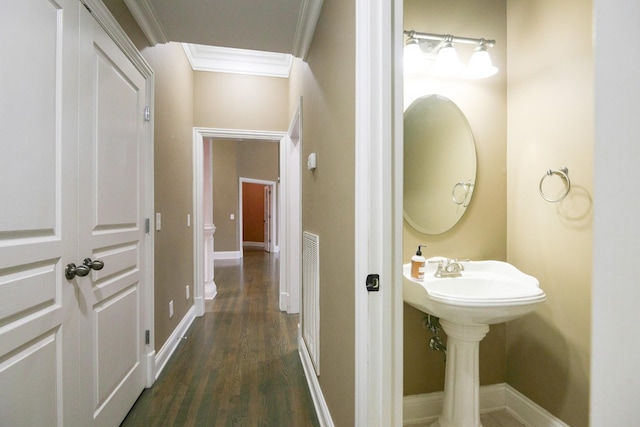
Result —
[[[81, 425], [76, 283], [77, 0], [0, 13], [0, 425]], [[37, 29], [37, 31], [36, 31]]]

